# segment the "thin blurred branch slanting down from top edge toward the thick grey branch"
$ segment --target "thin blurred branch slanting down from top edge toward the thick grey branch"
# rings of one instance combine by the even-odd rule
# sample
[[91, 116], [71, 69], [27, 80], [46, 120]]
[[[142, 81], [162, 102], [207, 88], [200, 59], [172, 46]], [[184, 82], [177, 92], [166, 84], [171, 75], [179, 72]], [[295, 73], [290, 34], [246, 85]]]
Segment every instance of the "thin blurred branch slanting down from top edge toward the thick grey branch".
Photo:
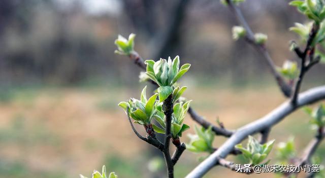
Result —
[[261, 53], [264, 56], [264, 58], [266, 59], [268, 65], [269, 65], [271, 73], [274, 76], [274, 78], [276, 79], [277, 84], [280, 87], [282, 93], [286, 97], [290, 97], [291, 96], [291, 86], [288, 85], [285, 82], [285, 80], [283, 79], [283, 77], [277, 72], [276, 66], [275, 66], [269, 52], [265, 48], [265, 46], [255, 43], [254, 33], [252, 32], [251, 28], [249, 27], [248, 23], [246, 22], [241, 10], [237, 6], [235, 6], [231, 0], [226, 0], [226, 2], [228, 4], [229, 9], [236, 16], [239, 23], [241, 23], [241, 25], [245, 28], [245, 30], [247, 32], [246, 37], [245, 37], [246, 41], [249, 44], [251, 44], [259, 53]]

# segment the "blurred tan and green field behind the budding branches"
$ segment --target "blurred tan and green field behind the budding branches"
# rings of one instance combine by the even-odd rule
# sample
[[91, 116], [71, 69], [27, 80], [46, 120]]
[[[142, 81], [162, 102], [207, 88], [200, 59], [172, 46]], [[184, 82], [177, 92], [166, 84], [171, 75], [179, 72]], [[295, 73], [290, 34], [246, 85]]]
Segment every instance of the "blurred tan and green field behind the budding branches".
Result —
[[[193, 99], [193, 108], [211, 122], [219, 117], [230, 129], [264, 116], [284, 101], [270, 84], [234, 89], [227, 84], [198, 87], [190, 81], [184, 83], [190, 86], [185, 96]], [[103, 164], [119, 177], [150, 177], [148, 146], [134, 135], [117, 106], [119, 101], [138, 96], [141, 87], [24, 87], [1, 93], [6, 97], [2, 97], [0, 105], [0, 177], [72, 178], [80, 173], [89, 176]], [[258, 89], [253, 90], [254, 87]], [[194, 126], [188, 116], [186, 123]], [[190, 132], [193, 130], [187, 131]], [[290, 135], [296, 136], [300, 150], [312, 138], [313, 131], [303, 112], [290, 115], [271, 132], [277, 143]], [[224, 140], [216, 137], [215, 146]], [[325, 154], [323, 144], [318, 152]], [[175, 168], [176, 177], [186, 175], [198, 164], [200, 156], [204, 155], [185, 152]], [[234, 173], [214, 168], [205, 177], [216, 176], [232, 177]], [[236, 174], [239, 176], [248, 177]]]

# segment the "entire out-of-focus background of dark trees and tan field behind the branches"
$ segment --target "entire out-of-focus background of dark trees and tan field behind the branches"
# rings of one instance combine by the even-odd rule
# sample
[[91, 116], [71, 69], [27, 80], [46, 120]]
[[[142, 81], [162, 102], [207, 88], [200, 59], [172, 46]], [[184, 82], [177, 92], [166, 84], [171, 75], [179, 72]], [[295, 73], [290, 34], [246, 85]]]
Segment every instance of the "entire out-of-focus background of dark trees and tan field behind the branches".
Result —
[[[288, 28], [306, 21], [288, 2], [240, 5], [253, 31], [268, 34], [278, 66], [296, 59], [288, 46], [297, 36]], [[134, 135], [117, 106], [139, 98], [147, 85], [138, 82], [140, 68], [114, 54], [118, 34], [136, 33], [135, 49], [144, 59], [179, 55], [181, 63], [191, 63], [181, 81], [188, 86], [185, 97], [209, 121], [219, 117], [235, 129], [264, 116], [285, 98], [264, 58], [232, 40], [236, 24], [217, 0], [0, 1], [0, 177], [90, 176], [104, 164], [119, 177], [164, 177], [159, 155]], [[324, 74], [324, 65], [315, 66], [303, 89], [325, 84]], [[298, 111], [271, 137], [279, 143], [295, 136], [301, 153], [315, 132], [308, 120]], [[185, 123], [194, 126], [188, 116]], [[215, 146], [224, 140], [216, 137]], [[325, 155], [324, 145], [317, 154]], [[184, 177], [202, 156], [185, 151], [175, 176]], [[216, 176], [248, 177], [222, 167], [205, 177]]]

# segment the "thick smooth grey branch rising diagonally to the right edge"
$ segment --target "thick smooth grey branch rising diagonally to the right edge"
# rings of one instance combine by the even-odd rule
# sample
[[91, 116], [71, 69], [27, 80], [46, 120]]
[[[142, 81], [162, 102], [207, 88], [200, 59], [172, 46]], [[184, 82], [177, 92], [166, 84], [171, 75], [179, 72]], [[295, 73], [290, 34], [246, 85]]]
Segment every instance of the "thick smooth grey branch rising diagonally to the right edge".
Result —
[[266, 116], [240, 127], [216, 152], [194, 168], [186, 178], [202, 177], [217, 164], [218, 158], [226, 157], [234, 149], [235, 145], [239, 144], [248, 135], [261, 132], [267, 127], [272, 127], [301, 106], [314, 103], [324, 98], [325, 86], [309, 89], [299, 95], [297, 105], [294, 106], [290, 101], [286, 101]]

